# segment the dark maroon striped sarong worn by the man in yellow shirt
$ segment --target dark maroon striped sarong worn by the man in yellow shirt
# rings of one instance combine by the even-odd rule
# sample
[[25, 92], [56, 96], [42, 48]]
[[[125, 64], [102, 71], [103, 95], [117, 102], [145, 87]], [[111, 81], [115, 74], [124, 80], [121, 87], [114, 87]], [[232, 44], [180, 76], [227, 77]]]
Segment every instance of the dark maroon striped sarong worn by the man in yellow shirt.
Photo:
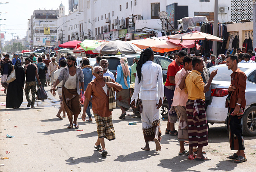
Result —
[[205, 102], [201, 99], [187, 101], [189, 147], [203, 147], [208, 145], [208, 128], [204, 108]]

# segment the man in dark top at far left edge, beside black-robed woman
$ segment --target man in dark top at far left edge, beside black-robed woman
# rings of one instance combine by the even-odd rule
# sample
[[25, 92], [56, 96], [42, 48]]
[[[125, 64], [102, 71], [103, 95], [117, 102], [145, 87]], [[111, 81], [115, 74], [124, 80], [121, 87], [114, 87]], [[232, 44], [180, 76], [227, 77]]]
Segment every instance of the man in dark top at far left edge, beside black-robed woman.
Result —
[[12, 62], [9, 60], [9, 54], [5, 54], [5, 56], [3, 57], [3, 59], [0, 62], [0, 71], [1, 71], [1, 84], [4, 88], [4, 94], [6, 94], [7, 88], [8, 88], [8, 84], [6, 82], [7, 80], [7, 75], [9, 72], [9, 69], [11, 69], [12, 67]]

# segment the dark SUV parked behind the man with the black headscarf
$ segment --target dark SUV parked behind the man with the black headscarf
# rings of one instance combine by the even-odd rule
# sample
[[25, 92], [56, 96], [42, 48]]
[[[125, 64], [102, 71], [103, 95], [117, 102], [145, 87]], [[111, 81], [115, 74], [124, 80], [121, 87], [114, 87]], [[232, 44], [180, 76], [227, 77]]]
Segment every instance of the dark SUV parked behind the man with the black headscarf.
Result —
[[[133, 63], [133, 59], [140, 54], [106, 54], [103, 58], [109, 61], [109, 70], [117, 76], [117, 66], [120, 64], [121, 56], [125, 56], [128, 60], [129, 65], [131, 66]], [[172, 63], [172, 59], [160, 55], [155, 54], [154, 62], [160, 64], [162, 66], [162, 78], [163, 81], [166, 81], [167, 78], [167, 70], [170, 63]]]

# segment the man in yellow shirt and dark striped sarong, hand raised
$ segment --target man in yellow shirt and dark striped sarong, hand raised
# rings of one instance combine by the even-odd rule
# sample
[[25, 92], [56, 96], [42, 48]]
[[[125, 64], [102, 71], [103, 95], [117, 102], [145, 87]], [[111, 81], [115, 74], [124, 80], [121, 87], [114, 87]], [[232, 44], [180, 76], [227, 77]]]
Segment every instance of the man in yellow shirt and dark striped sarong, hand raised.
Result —
[[[189, 159], [193, 160], [211, 160], [203, 156], [203, 146], [208, 145], [208, 128], [205, 112], [205, 93], [209, 90], [213, 77], [217, 70], [211, 72], [207, 84], [203, 83], [200, 72], [203, 72], [204, 63], [200, 57], [194, 57], [192, 60], [193, 70], [185, 79], [185, 93], [188, 93], [186, 105], [187, 124], [188, 124], [188, 142]], [[193, 147], [198, 146], [197, 156], [194, 157]]]

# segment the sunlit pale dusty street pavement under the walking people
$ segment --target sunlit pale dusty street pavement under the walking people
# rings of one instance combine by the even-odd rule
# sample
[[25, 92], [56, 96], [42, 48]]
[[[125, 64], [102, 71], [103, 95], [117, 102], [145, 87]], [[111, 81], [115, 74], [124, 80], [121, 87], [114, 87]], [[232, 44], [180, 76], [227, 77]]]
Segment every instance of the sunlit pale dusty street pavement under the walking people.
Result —
[[[165, 133], [166, 121], [162, 121], [162, 150], [156, 152], [155, 144], [150, 142], [150, 151], [143, 151], [144, 137], [140, 118], [128, 111], [126, 120], [120, 120], [120, 109], [112, 113], [116, 140], [105, 141], [107, 157], [102, 157], [94, 149], [97, 140], [95, 121], [83, 122], [78, 117], [79, 130], [67, 129], [68, 118], [56, 117], [59, 110], [58, 95], [50, 94], [46, 87], [48, 100], [37, 100], [34, 109], [26, 107], [25, 100], [20, 109], [6, 109], [0, 106], [0, 172], [206, 172], [236, 171], [254, 172], [256, 160], [256, 137], [244, 137], [247, 162], [234, 163], [225, 159], [233, 154], [228, 144], [228, 133], [224, 124], [209, 127], [209, 145], [203, 150], [211, 161], [187, 160], [179, 156], [177, 136]], [[0, 91], [0, 102], [5, 102], [5, 94]], [[92, 112], [92, 110], [91, 110]], [[88, 118], [87, 118], [88, 119]], [[93, 118], [94, 119], [94, 118]], [[137, 122], [137, 125], [128, 125]], [[14, 127], [17, 126], [17, 127]], [[178, 130], [178, 124], [175, 124]], [[6, 138], [6, 134], [14, 136]], [[185, 146], [188, 150], [188, 145]], [[9, 151], [9, 154], [6, 154]]]

